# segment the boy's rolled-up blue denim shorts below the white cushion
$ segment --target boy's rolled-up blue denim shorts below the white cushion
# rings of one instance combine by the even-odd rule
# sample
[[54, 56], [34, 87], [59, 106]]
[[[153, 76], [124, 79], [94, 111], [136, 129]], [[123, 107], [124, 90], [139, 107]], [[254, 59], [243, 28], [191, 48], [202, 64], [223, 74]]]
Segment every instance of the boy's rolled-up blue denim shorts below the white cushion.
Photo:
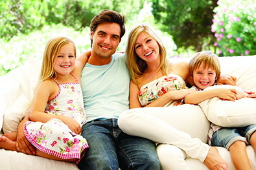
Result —
[[229, 147], [236, 141], [244, 141], [246, 145], [250, 144], [250, 137], [256, 131], [256, 125], [246, 127], [222, 127], [213, 134], [211, 138], [212, 146]]

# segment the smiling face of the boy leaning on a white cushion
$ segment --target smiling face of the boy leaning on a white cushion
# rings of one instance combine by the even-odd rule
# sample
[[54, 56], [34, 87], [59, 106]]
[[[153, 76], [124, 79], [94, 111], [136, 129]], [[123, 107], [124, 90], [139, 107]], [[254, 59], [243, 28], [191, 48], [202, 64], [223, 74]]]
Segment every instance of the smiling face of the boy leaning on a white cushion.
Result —
[[193, 80], [199, 89], [205, 89], [214, 85], [216, 80], [216, 72], [207, 65], [202, 63], [200, 67], [193, 71]]

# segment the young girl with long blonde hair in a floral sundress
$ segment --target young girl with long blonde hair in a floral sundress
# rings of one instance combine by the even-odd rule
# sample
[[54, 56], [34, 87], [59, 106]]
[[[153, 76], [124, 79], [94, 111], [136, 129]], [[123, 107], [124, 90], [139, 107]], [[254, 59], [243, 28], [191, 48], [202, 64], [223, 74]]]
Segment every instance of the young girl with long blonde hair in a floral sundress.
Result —
[[[40, 84], [28, 121], [26, 138], [36, 155], [78, 163], [88, 147], [81, 135], [86, 121], [80, 72], [87, 61], [76, 61], [76, 47], [67, 37], [54, 37], [45, 47]], [[71, 74], [72, 72], [72, 74]], [[17, 151], [16, 142], [0, 137], [0, 147]]]

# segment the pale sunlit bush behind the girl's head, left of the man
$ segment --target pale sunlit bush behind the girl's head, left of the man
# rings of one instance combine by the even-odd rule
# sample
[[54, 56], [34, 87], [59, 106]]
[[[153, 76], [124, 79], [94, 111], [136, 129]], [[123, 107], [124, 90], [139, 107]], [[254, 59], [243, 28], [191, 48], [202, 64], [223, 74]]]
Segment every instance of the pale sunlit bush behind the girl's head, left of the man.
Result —
[[62, 24], [45, 25], [41, 30], [27, 35], [17, 34], [8, 42], [0, 39], [0, 76], [22, 65], [29, 57], [42, 58], [48, 39], [54, 36], [67, 36], [73, 39], [77, 55], [89, 50], [91, 46], [88, 28], [76, 31], [74, 28], [64, 27]]

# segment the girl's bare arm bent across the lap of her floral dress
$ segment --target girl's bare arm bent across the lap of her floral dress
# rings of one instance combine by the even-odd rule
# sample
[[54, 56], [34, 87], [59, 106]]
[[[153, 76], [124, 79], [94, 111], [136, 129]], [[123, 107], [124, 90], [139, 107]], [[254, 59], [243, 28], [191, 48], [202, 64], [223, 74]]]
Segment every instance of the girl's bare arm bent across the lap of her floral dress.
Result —
[[34, 100], [34, 105], [32, 106], [32, 110], [29, 115], [29, 119], [32, 122], [48, 122], [51, 118], [56, 118], [58, 120], [62, 120], [73, 133], [80, 134], [81, 127], [78, 122], [69, 118], [67, 116], [53, 115], [47, 114], [45, 112], [45, 107], [47, 105], [47, 101], [52, 97], [56, 96], [56, 91], [58, 92], [58, 85], [54, 81], [45, 80], [38, 87], [38, 92], [36, 93], [36, 98]]

